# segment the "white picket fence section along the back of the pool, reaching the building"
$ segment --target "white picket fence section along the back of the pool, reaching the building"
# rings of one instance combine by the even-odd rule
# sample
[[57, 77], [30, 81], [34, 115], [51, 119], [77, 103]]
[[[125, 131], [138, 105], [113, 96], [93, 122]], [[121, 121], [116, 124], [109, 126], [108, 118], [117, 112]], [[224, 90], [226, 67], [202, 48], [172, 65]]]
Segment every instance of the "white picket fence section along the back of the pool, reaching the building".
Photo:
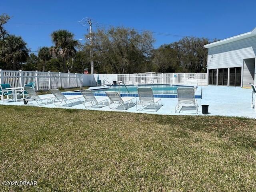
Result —
[[116, 74], [117, 81], [125, 84], [192, 84], [208, 85], [207, 73], [140, 73]]

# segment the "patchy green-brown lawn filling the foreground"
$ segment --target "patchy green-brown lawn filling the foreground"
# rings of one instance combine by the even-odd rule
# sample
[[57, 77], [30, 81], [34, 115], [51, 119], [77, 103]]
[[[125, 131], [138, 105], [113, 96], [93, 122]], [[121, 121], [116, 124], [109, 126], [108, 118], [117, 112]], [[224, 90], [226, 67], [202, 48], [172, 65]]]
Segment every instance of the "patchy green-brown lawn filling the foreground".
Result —
[[256, 191], [256, 124], [0, 106], [2, 191]]

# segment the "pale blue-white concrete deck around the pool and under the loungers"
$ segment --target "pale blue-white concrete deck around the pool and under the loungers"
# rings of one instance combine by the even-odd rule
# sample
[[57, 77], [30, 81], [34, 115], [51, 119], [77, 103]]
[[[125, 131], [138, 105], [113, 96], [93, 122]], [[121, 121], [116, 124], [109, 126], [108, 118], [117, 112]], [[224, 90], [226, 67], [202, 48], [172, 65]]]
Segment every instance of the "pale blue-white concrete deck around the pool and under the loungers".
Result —
[[[69, 109], [86, 109], [86, 110], [102, 110], [102, 111], [121, 111], [121, 112], [135, 112], [135, 113], [150, 113], [160, 115], [203, 115], [202, 104], [209, 105], [209, 114], [219, 116], [238, 116], [247, 118], [256, 118], [256, 112], [251, 108], [251, 92], [252, 89], [240, 87], [226, 87], [226, 86], [202, 86], [202, 99], [197, 99], [199, 110], [198, 114], [194, 110], [182, 110], [175, 112], [177, 98], [161, 98], [163, 106], [155, 112], [152, 109], [136, 110], [136, 106], [124, 109], [111, 110], [108, 106], [103, 108], [85, 108], [81, 102], [76, 102], [74, 106], [54, 106], [54, 104], [44, 105], [42, 107], [48, 108], [69, 108]], [[51, 94], [41, 95], [41, 98], [50, 97]], [[79, 96], [66, 95], [68, 99], [77, 98]], [[107, 97], [96, 96], [99, 99], [107, 99]], [[128, 97], [127, 97], [128, 98]], [[137, 98], [138, 100], [138, 98]], [[34, 105], [34, 102], [30, 102]], [[2, 104], [2, 101], [0, 101]], [[23, 106], [23, 102], [4, 102], [5, 105], [19, 105]], [[36, 105], [34, 105], [36, 106]]]

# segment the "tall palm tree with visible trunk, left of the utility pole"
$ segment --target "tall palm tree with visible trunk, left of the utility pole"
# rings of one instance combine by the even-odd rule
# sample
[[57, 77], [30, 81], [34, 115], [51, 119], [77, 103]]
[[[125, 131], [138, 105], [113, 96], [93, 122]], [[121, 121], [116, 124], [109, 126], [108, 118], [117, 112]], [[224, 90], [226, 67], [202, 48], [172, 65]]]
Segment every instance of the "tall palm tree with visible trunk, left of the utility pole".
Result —
[[62, 58], [63, 72], [67, 72], [66, 60], [76, 54], [75, 46], [78, 42], [74, 40], [74, 34], [68, 30], [58, 30], [51, 34], [54, 47], [50, 48], [52, 55]]

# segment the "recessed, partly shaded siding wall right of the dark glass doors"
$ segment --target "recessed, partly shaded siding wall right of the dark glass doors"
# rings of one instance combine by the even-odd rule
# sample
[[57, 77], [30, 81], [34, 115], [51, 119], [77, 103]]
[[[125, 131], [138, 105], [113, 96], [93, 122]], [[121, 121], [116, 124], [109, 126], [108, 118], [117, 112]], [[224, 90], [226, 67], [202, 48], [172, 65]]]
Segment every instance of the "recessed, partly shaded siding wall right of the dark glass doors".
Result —
[[244, 70], [243, 70], [243, 87], [250, 86], [249, 83], [254, 83], [254, 68], [255, 68], [255, 58], [244, 60]]

